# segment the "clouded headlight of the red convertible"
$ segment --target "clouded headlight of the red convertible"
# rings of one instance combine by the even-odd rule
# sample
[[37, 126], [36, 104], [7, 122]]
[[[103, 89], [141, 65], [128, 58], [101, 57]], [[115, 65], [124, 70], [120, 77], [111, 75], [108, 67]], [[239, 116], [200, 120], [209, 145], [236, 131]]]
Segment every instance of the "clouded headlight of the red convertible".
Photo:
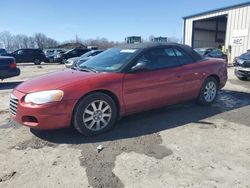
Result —
[[24, 101], [26, 103], [45, 104], [49, 102], [61, 101], [62, 98], [63, 91], [49, 90], [27, 94], [24, 98]]

